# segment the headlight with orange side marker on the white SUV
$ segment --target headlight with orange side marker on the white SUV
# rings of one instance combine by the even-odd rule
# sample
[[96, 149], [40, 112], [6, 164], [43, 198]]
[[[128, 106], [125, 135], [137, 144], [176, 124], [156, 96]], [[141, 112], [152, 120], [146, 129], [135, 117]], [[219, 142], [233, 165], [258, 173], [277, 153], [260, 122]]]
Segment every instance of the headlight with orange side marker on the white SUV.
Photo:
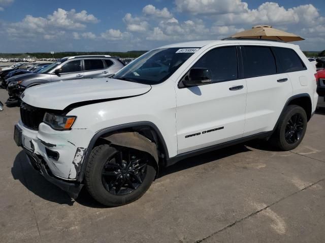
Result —
[[54, 130], [70, 130], [77, 116], [64, 116], [45, 113], [43, 122]]

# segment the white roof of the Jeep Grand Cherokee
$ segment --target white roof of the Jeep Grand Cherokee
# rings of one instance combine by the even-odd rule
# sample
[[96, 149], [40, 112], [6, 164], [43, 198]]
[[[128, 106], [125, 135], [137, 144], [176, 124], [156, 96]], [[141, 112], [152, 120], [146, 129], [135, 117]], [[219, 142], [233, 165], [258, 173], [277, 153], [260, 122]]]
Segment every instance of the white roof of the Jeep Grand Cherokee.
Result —
[[182, 43], [176, 43], [171, 44], [167, 46], [163, 46], [160, 48], [202, 48], [209, 44], [226, 44], [226, 43], [255, 43], [255, 44], [268, 44], [272, 46], [287, 46], [287, 47], [295, 47], [297, 45], [289, 44], [285, 42], [279, 42], [279, 41], [272, 41], [272, 40], [266, 40], [266, 39], [236, 39], [236, 38], [227, 38], [222, 40], [210, 40], [210, 41], [196, 41], [196, 42], [182, 42]]

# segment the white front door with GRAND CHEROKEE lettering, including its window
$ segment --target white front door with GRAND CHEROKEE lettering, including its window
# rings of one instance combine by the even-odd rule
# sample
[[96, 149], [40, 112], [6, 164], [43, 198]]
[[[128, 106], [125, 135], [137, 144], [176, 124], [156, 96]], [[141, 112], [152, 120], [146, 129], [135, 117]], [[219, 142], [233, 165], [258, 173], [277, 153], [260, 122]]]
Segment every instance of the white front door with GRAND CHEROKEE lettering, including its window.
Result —
[[242, 137], [247, 88], [237, 53], [234, 46], [208, 51], [192, 67], [210, 69], [212, 83], [176, 88], [178, 154]]

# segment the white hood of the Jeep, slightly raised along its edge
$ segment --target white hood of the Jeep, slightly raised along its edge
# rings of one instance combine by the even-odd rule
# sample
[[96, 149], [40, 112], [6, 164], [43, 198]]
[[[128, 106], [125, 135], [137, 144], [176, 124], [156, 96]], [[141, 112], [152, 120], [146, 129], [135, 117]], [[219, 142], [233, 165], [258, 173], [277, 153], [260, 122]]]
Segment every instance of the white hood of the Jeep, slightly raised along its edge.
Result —
[[31, 87], [26, 89], [21, 99], [31, 106], [63, 110], [74, 103], [137, 96], [150, 89], [150, 85], [114, 78], [87, 78]]

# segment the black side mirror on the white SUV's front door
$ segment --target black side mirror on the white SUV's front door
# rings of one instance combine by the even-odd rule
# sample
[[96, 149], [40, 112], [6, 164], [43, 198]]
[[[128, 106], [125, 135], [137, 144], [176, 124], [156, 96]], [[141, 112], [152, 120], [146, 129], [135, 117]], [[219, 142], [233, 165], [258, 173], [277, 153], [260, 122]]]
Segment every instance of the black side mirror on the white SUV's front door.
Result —
[[207, 68], [192, 68], [188, 77], [182, 80], [185, 87], [206, 85], [212, 83], [212, 73]]

